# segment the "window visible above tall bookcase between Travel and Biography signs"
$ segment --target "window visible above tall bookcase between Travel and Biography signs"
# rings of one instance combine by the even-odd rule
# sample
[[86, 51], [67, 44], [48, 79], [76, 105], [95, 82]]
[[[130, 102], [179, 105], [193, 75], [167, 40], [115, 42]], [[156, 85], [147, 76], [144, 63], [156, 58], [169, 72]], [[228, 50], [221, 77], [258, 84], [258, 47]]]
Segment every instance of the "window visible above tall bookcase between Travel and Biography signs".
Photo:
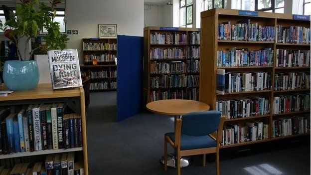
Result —
[[284, 0], [255, 0], [255, 10], [284, 13]]

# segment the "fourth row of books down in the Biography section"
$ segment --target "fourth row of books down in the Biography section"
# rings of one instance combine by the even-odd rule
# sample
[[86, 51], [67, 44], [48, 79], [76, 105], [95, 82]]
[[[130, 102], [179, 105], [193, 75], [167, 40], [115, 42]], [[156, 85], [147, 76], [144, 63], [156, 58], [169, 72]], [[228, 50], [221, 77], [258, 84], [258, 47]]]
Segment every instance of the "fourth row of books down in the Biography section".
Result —
[[310, 93], [293, 93], [273, 97], [273, 114], [310, 110]]

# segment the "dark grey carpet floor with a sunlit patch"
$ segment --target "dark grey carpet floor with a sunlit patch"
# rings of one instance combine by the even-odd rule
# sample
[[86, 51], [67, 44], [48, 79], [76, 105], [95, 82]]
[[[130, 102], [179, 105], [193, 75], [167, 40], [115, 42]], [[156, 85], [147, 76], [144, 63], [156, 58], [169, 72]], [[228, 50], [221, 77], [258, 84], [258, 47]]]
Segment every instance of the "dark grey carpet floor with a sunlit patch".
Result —
[[[141, 113], [116, 121], [116, 92], [91, 93], [87, 110], [90, 175], [176, 175], [163, 171], [164, 133], [173, 131], [173, 118]], [[251, 149], [249, 149], [251, 148]], [[241, 150], [246, 149], [244, 152]], [[172, 152], [173, 150], [170, 149]], [[309, 138], [221, 150], [221, 175], [310, 175]], [[182, 168], [182, 175], [215, 175], [214, 156], [201, 166], [201, 156]]]

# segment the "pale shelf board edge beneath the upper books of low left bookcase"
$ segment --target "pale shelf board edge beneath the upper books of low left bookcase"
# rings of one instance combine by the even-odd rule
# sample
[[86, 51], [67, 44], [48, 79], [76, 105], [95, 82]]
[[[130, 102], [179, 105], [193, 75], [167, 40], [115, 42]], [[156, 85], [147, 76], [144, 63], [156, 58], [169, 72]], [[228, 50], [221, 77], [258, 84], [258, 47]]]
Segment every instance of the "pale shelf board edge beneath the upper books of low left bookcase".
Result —
[[1, 155], [0, 159], [8, 159], [8, 158], [18, 158], [25, 156], [37, 156], [37, 155], [46, 155], [46, 154], [56, 154], [56, 153], [66, 153], [66, 152], [75, 152], [82, 151], [83, 147], [78, 148], [68, 148], [68, 149], [58, 149], [58, 150], [41, 150], [34, 152], [23, 152], [23, 153], [13, 153], [9, 155]]

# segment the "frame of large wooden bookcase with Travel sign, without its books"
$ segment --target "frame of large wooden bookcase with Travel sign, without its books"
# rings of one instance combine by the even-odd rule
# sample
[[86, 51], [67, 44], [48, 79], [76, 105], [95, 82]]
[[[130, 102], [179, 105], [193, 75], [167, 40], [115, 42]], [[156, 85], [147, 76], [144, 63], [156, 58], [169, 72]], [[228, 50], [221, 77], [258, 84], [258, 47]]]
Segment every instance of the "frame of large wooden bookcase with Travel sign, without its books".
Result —
[[[243, 10], [234, 10], [234, 9], [222, 9], [214, 8], [208, 11], [201, 12], [201, 61], [200, 61], [200, 91], [199, 91], [199, 101], [205, 102], [210, 105], [211, 110], [216, 110], [217, 101], [223, 99], [233, 100], [245, 97], [256, 97], [261, 96], [269, 99], [270, 109], [267, 114], [249, 116], [243, 118], [228, 118], [225, 120], [224, 127], [239, 125], [243, 126], [245, 122], [256, 122], [260, 121], [263, 124], [268, 125], [268, 137], [256, 141], [248, 142], [238, 142], [231, 144], [223, 144], [220, 148], [229, 148], [236, 146], [243, 146], [248, 144], [256, 144], [262, 142], [269, 142], [279, 139], [287, 139], [294, 137], [310, 136], [309, 131], [304, 133], [295, 133], [292, 135], [274, 137], [274, 121], [282, 120], [284, 117], [294, 117], [306, 115], [310, 121], [310, 106], [308, 109], [303, 111], [293, 111], [287, 113], [278, 113], [275, 114], [274, 106], [274, 97], [280, 95], [291, 95], [293, 93], [309, 93], [310, 96], [310, 87], [305, 87], [304, 89], [286, 89], [286, 90], [275, 90], [275, 76], [279, 73], [286, 72], [306, 72], [306, 75], [309, 74], [310, 79], [310, 64], [305, 67], [280, 67], [276, 65], [277, 58], [277, 49], [287, 49], [287, 50], [309, 50], [310, 53], [310, 43], [280, 43], [278, 42], [278, 25], [284, 27], [289, 26], [302, 26], [310, 28], [310, 20], [296, 20], [292, 14], [281, 14], [281, 13], [270, 13], [270, 12], [254, 12], [255, 15], [240, 15], [240, 11]], [[240, 14], [239, 14], [240, 13]], [[245, 13], [244, 13], [245, 14]], [[275, 29], [275, 35], [273, 40], [268, 41], [248, 41], [248, 40], [221, 40], [222, 38], [218, 37], [219, 24], [228, 24], [229, 25], [240, 23], [241, 20], [250, 19], [250, 23], [258, 23], [262, 26], [272, 26]], [[229, 30], [229, 29], [228, 29]], [[231, 33], [232, 34], [232, 33]], [[273, 65], [263, 65], [263, 66], [223, 66], [219, 65], [219, 50], [229, 50], [230, 48], [243, 49], [248, 48], [249, 51], [260, 50], [263, 48], [271, 48], [273, 50]], [[271, 73], [271, 89], [258, 90], [258, 91], [242, 91], [242, 92], [225, 92], [224, 95], [216, 93], [217, 90], [217, 70], [224, 69], [226, 73], [249, 73], [249, 72], [270, 72]], [[227, 81], [227, 80], [226, 80]], [[309, 80], [310, 81], [310, 80]], [[310, 85], [309, 85], [310, 86]], [[309, 115], [309, 116], [308, 116]]]

